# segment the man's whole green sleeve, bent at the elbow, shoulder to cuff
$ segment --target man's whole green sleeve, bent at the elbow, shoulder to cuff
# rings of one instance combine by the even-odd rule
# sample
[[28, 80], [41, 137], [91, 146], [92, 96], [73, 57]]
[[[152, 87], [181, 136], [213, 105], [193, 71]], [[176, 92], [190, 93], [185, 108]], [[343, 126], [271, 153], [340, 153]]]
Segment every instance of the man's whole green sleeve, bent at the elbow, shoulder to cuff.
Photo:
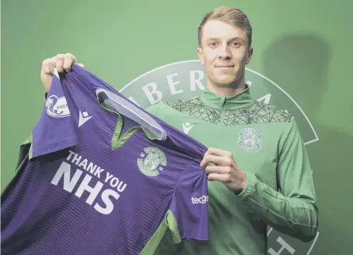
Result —
[[317, 232], [318, 209], [313, 171], [295, 119], [278, 145], [278, 190], [246, 172], [246, 188], [237, 197], [273, 229], [310, 242]]

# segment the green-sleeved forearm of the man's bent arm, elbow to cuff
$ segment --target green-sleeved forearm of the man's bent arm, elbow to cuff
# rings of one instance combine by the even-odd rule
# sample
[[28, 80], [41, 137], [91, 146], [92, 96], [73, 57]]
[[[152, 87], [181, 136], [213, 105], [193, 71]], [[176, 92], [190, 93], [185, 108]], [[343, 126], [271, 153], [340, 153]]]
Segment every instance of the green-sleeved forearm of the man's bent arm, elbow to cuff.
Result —
[[310, 195], [285, 197], [253, 173], [246, 173], [246, 188], [236, 196], [273, 229], [303, 242], [315, 237], [318, 210]]

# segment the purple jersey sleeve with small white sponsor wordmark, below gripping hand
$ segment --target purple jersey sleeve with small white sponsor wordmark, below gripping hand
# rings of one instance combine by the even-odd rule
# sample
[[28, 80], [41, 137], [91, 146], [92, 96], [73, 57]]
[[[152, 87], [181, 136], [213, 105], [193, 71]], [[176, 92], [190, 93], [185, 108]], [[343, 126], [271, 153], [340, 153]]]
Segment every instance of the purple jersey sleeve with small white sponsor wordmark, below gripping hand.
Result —
[[178, 181], [167, 224], [176, 244], [182, 239], [209, 239], [207, 175], [192, 163]]

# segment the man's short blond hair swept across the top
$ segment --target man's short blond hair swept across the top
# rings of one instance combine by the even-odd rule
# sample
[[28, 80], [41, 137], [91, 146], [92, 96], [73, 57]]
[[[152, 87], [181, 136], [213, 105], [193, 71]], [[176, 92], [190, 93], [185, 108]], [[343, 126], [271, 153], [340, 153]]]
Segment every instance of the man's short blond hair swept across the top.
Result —
[[202, 38], [202, 28], [205, 26], [207, 21], [211, 19], [222, 21], [224, 23], [230, 23], [238, 28], [246, 29], [246, 36], [248, 38], [248, 48], [251, 47], [251, 36], [252, 36], [252, 28], [250, 21], [244, 11], [235, 7], [229, 6], [220, 6], [213, 11], [206, 13], [202, 22], [198, 28], [198, 40], [199, 45], [201, 47], [201, 38]]

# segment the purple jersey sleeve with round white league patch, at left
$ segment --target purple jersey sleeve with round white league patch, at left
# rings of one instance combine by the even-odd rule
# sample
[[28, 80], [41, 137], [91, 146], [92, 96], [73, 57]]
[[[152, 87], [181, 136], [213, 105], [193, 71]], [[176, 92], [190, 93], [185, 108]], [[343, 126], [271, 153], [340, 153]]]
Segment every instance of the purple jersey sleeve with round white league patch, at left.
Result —
[[59, 77], [53, 75], [42, 114], [31, 134], [30, 159], [77, 144], [77, 134]]

